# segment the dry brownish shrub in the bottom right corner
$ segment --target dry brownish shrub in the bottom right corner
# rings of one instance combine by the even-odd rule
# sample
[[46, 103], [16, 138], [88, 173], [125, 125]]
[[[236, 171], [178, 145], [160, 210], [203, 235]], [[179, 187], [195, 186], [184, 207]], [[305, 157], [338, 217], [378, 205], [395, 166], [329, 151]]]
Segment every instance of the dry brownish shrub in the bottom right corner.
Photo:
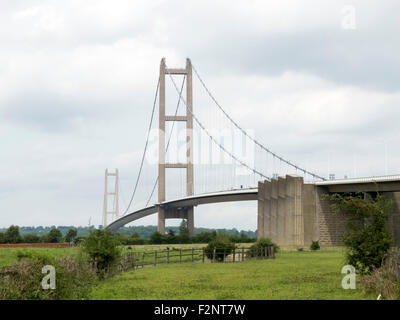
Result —
[[385, 256], [380, 268], [362, 277], [367, 292], [382, 295], [385, 300], [400, 299], [400, 250], [392, 249]]

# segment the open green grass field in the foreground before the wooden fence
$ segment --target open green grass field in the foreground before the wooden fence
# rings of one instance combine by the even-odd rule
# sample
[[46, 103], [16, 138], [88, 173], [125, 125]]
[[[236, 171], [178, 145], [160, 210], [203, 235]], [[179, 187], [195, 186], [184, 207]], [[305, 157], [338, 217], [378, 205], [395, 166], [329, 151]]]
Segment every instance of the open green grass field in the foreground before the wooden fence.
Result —
[[[374, 299], [341, 287], [342, 249], [283, 250], [275, 260], [184, 263], [119, 274], [94, 287], [91, 299]], [[359, 287], [359, 286], [358, 286]]]

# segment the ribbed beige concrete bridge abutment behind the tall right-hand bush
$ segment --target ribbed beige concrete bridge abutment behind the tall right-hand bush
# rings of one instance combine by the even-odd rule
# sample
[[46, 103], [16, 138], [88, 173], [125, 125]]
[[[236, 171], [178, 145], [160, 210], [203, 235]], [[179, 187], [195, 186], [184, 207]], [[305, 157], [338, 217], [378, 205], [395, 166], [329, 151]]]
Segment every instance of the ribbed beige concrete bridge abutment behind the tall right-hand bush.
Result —
[[[310, 245], [316, 240], [322, 245], [342, 245], [346, 215], [332, 211], [328, 186], [305, 184], [302, 177], [287, 175], [259, 182], [258, 190], [258, 238], [280, 245]], [[399, 245], [400, 192], [382, 194], [393, 200], [389, 228], [394, 244]]]

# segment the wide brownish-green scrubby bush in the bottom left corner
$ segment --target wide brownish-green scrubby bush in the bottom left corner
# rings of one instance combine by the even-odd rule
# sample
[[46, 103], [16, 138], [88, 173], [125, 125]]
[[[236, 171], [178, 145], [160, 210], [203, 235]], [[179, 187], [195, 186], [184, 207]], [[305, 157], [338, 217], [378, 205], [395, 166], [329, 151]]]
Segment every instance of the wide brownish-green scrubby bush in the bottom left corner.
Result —
[[[29, 251], [19, 253], [20, 261], [0, 270], [0, 299], [60, 300], [86, 299], [95, 283], [96, 274], [86, 261], [63, 257], [51, 259]], [[42, 288], [45, 265], [56, 271], [56, 289]]]

